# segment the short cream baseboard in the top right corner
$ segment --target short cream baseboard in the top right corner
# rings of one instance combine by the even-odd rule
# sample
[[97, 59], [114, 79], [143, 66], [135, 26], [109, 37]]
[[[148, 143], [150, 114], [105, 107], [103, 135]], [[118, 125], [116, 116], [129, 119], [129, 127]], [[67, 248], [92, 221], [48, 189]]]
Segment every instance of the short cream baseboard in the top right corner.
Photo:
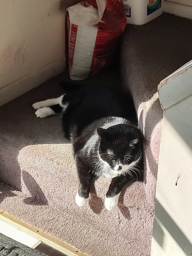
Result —
[[192, 6], [179, 4], [172, 1], [164, 1], [163, 12], [175, 14], [176, 16], [192, 19]]

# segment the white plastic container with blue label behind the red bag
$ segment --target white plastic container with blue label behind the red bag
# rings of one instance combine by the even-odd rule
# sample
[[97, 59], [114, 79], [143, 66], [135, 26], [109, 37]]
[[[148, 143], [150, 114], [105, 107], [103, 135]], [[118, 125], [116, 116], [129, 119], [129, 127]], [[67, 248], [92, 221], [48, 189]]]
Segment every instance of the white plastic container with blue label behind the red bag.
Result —
[[163, 13], [163, 0], [123, 0], [128, 24], [143, 25]]

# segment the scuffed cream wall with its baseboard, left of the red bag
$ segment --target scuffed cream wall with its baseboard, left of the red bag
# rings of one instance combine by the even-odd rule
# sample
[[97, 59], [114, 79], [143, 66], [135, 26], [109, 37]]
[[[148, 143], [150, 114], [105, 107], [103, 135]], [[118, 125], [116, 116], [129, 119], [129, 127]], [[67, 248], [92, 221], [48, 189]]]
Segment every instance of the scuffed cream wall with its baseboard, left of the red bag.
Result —
[[1, 0], [0, 105], [65, 69], [66, 8], [78, 0]]

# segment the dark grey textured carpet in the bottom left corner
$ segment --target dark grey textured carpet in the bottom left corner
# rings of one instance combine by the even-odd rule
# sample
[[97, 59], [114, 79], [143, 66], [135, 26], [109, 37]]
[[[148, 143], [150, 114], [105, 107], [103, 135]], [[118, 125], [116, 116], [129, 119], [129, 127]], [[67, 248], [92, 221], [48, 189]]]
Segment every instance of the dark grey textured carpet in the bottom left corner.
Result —
[[44, 253], [31, 249], [3, 234], [0, 234], [0, 255], [4, 256], [47, 256]]

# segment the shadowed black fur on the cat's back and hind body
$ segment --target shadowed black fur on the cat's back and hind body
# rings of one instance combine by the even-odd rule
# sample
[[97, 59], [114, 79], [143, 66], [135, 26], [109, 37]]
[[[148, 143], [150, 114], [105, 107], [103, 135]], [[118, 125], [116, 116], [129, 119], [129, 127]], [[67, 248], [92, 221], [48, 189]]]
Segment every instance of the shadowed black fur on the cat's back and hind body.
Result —
[[[71, 85], [73, 87], [73, 85]], [[133, 100], [110, 86], [84, 86], [70, 91], [63, 97], [62, 103], [70, 102], [63, 115], [64, 131], [70, 138], [71, 127], [77, 126], [77, 136], [82, 130], [97, 119], [108, 116], [119, 116], [137, 125]]]

